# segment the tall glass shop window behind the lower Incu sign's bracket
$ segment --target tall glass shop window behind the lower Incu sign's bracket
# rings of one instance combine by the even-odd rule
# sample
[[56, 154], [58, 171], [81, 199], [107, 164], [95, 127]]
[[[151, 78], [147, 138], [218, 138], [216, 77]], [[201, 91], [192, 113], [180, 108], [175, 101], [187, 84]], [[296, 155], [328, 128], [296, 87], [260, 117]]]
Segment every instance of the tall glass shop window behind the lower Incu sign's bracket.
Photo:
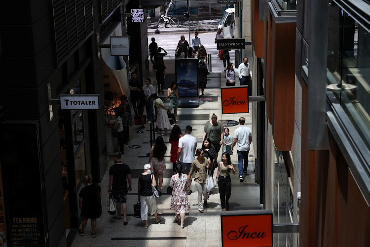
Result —
[[[283, 152], [275, 148], [274, 157], [274, 217], [277, 223], [293, 223], [293, 205], [290, 179]], [[293, 233], [275, 233], [274, 246], [293, 246]]]

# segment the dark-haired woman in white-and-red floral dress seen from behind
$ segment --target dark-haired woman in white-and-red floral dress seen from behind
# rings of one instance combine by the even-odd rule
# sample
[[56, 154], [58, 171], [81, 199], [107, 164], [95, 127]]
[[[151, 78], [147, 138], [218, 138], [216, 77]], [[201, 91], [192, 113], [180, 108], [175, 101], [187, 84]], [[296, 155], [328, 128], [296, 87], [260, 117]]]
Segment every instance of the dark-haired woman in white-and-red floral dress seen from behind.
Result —
[[186, 174], [182, 174], [181, 171], [183, 166], [181, 164], [176, 165], [178, 174], [172, 175], [170, 187], [172, 190], [171, 207], [170, 209], [175, 210], [175, 220], [179, 222], [179, 214], [181, 218], [180, 229], [184, 228], [185, 213], [190, 210], [190, 204], [187, 200], [187, 192], [190, 189], [190, 182]]

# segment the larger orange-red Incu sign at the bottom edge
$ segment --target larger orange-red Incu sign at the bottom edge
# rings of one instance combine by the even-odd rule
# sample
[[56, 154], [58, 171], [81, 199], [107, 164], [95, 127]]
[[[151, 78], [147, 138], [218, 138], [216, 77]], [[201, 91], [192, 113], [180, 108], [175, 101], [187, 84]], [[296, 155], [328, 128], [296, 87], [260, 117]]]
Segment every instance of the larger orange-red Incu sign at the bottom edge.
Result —
[[272, 210], [221, 212], [223, 247], [272, 247]]

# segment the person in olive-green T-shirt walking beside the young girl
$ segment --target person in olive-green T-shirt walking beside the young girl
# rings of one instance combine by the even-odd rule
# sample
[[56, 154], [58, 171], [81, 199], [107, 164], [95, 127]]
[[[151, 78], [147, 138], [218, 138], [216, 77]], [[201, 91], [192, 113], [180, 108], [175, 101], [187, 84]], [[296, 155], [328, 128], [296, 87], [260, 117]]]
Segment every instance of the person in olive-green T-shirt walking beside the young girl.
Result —
[[206, 137], [211, 140], [216, 149], [214, 165], [217, 167], [217, 158], [223, 141], [223, 124], [217, 120], [216, 114], [213, 114], [211, 120], [204, 125], [202, 143], [204, 143]]

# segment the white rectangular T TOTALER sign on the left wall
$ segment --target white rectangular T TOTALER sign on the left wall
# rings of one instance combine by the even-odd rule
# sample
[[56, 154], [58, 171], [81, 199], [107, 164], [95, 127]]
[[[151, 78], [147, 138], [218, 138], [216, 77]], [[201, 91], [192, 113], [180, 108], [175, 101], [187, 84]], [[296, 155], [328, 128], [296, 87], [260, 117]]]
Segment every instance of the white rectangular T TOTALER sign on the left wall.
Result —
[[60, 109], [97, 110], [99, 109], [99, 94], [61, 94]]

